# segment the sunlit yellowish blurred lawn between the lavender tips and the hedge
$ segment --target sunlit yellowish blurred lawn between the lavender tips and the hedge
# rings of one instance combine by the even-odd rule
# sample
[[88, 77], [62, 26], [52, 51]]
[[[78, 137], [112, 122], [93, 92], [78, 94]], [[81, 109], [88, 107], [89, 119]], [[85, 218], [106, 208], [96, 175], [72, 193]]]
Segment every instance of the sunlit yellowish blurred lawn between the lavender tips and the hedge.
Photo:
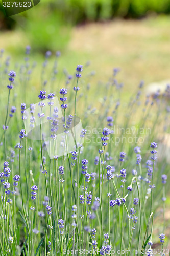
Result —
[[[112, 75], [112, 69], [120, 67], [122, 72], [119, 80], [124, 82], [123, 95], [127, 97], [133, 93], [140, 80], [149, 84], [169, 78], [169, 27], [170, 17], [157, 16], [143, 20], [117, 19], [113, 22], [69, 28], [70, 39], [66, 39], [64, 47], [61, 45], [59, 70], [67, 68], [72, 74], [78, 63], [90, 61], [89, 71], [96, 71], [91, 87], [96, 90], [97, 81], [106, 83]], [[10, 55], [13, 63], [20, 62], [21, 58], [23, 61], [25, 46], [31, 43], [27, 30], [1, 32], [0, 37], [5, 55]], [[58, 35], [53, 44], [55, 45], [56, 40], [58, 47], [57, 37]], [[57, 47], [56, 50], [60, 50]], [[44, 56], [34, 49], [32, 59], [41, 66]], [[12, 68], [11, 65], [10, 69]], [[34, 76], [34, 83], [39, 86], [39, 76]]]

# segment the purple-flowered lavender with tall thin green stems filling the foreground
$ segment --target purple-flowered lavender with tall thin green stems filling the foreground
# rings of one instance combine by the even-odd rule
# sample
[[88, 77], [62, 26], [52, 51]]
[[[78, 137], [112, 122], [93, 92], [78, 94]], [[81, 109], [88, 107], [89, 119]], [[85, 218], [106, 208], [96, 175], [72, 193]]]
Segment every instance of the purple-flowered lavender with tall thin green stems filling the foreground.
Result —
[[[26, 47], [27, 58], [30, 51]], [[91, 76], [87, 65], [78, 65], [75, 79], [64, 71], [65, 88], [60, 89], [55, 79], [59, 55], [48, 87], [45, 76], [52, 53], [46, 52], [36, 93], [31, 92], [30, 59], [17, 76], [9, 72], [7, 108], [4, 101], [1, 106], [5, 122], [0, 148], [0, 254], [81, 255], [84, 250], [86, 255], [169, 255], [168, 165], [165, 154], [161, 155], [168, 131], [169, 86], [161, 97], [155, 93], [146, 101], [140, 83], [130, 101], [121, 105], [123, 84], [117, 79], [118, 68], [96, 94], [87, 86]], [[6, 82], [7, 74], [3, 77]], [[23, 81], [27, 81], [25, 98], [20, 93]], [[75, 83], [74, 92], [70, 81]], [[82, 94], [78, 94], [80, 88]], [[16, 107], [11, 106], [11, 89], [19, 93]], [[98, 96], [100, 104], [96, 103]], [[60, 99], [61, 109], [55, 105], [55, 97]], [[83, 129], [77, 134], [79, 116]], [[134, 120], [138, 125], [135, 132], [131, 130]], [[33, 140], [34, 129], [37, 140]], [[69, 134], [74, 140], [71, 149]]]

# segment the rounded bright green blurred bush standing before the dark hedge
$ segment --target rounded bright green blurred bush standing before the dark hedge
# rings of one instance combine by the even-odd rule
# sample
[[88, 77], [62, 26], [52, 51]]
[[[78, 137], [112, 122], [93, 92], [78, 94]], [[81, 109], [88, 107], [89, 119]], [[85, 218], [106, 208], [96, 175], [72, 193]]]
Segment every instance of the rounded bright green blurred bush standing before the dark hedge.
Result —
[[24, 25], [30, 44], [34, 50], [44, 52], [62, 50], [69, 40], [71, 25], [66, 24], [52, 2], [43, 3], [43, 8], [40, 5], [30, 11]]

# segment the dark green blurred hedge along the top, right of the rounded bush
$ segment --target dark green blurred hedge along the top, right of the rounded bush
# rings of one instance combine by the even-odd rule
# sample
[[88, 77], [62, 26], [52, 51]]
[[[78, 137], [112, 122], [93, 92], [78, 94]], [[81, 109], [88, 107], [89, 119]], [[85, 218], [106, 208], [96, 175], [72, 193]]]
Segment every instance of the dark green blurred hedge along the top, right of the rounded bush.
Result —
[[170, 13], [170, 0], [59, 0], [56, 8], [72, 24], [114, 17], [141, 18], [150, 13]]

